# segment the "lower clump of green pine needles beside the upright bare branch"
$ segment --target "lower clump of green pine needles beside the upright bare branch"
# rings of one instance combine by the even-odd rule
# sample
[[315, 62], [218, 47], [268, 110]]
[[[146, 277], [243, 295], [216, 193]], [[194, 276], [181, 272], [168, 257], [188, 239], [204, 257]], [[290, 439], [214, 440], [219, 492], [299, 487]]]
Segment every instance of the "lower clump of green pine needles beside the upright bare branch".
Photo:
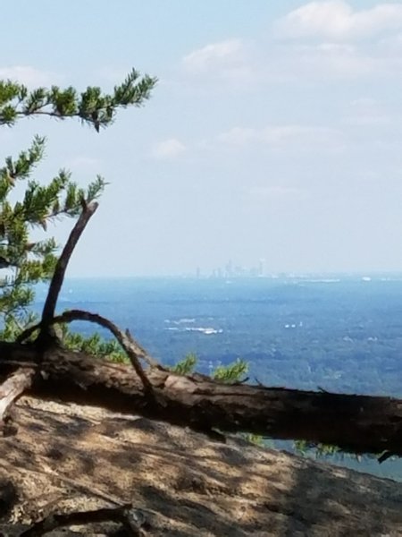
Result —
[[[21, 310], [26, 310], [34, 298], [32, 286], [52, 276], [57, 260], [54, 238], [31, 242], [30, 230], [40, 226], [46, 231], [55, 217], [76, 217], [82, 200], [94, 200], [105, 187], [104, 180], [96, 177], [84, 191], [71, 181], [68, 172], [61, 170], [46, 185], [29, 179], [22, 199], [12, 204], [10, 193], [18, 181], [32, 174], [43, 158], [44, 147], [45, 140], [36, 137], [27, 151], [15, 160], [6, 158], [5, 166], [0, 168], [0, 256], [12, 270], [0, 281], [0, 312], [9, 322], [17, 311], [21, 320]], [[23, 325], [27, 321], [28, 317]]]

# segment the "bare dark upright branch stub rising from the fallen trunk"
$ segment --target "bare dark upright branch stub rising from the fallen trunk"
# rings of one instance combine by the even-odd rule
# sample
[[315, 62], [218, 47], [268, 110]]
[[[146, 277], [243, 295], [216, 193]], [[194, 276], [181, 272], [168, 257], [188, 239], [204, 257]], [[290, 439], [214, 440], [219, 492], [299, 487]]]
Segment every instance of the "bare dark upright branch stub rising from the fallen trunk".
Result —
[[92, 201], [90, 203], [87, 203], [84, 200], [82, 201], [82, 212], [80, 217], [75, 223], [75, 226], [72, 228], [68, 241], [65, 243], [63, 248], [62, 255], [60, 256], [59, 260], [57, 260], [54, 268], [54, 275], [52, 277], [52, 281], [50, 282], [46, 302], [42, 311], [42, 320], [40, 322], [40, 334], [38, 340], [46, 340], [49, 336], [49, 327], [53, 324], [52, 320], [54, 318], [55, 306], [60, 290], [63, 286], [65, 271], [71, 258], [72, 251], [74, 251], [76, 244], [80, 240], [82, 232], [88, 224], [89, 218], [92, 217], [96, 209], [96, 201]]

